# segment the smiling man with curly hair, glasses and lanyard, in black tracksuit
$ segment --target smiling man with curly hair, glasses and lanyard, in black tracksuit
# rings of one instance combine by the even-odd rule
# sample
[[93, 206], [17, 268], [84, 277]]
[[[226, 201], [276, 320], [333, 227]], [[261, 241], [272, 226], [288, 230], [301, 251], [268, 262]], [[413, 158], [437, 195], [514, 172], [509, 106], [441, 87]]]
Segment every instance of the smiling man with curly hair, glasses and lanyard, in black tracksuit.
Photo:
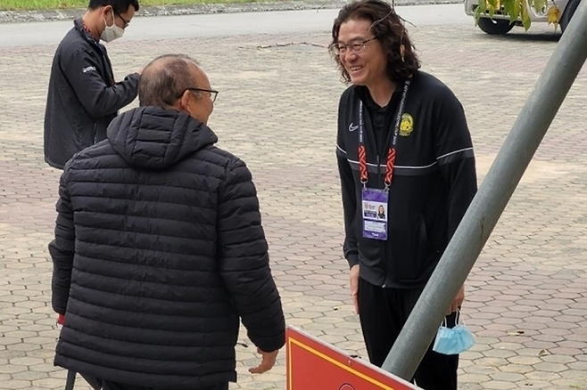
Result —
[[[418, 70], [389, 4], [343, 7], [331, 50], [352, 84], [340, 100], [336, 145], [343, 251], [369, 359], [381, 366], [475, 196], [475, 158], [459, 100]], [[371, 193], [379, 197], [375, 206]], [[463, 299], [464, 287], [448, 310], [450, 325]], [[429, 349], [418, 386], [456, 390], [458, 359]]]

